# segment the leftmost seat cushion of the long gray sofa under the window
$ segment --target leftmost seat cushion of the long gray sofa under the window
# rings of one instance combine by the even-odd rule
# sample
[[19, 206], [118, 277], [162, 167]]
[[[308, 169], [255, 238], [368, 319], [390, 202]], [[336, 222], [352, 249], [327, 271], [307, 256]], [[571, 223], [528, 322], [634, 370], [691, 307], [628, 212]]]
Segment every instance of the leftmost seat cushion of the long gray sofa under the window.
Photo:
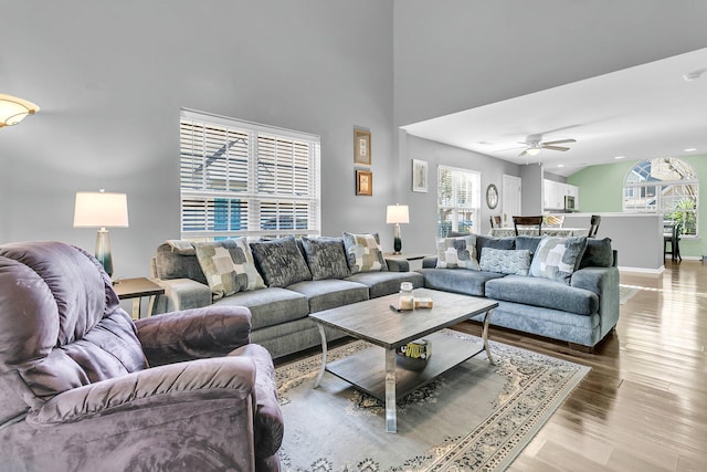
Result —
[[213, 305], [247, 307], [251, 311], [253, 331], [305, 318], [309, 314], [306, 296], [281, 287], [239, 292], [215, 301]]

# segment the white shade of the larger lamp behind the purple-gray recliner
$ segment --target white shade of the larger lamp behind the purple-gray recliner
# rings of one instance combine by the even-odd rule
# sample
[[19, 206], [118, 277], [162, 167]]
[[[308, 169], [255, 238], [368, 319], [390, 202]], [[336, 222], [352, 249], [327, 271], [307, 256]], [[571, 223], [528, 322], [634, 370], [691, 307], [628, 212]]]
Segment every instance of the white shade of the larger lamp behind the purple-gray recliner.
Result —
[[74, 228], [127, 228], [128, 198], [125, 193], [76, 192]]

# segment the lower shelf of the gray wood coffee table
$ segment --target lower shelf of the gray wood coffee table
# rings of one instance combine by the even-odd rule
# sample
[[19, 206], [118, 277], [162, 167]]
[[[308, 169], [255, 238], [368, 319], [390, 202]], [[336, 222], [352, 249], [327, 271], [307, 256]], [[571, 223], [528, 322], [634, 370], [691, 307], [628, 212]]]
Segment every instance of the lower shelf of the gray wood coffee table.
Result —
[[[395, 398], [431, 382], [451, 368], [484, 352], [484, 343], [458, 339], [433, 333], [424, 337], [432, 343], [430, 359], [395, 355]], [[326, 370], [381, 401], [386, 401], [386, 349], [371, 346], [349, 357], [327, 364]]]

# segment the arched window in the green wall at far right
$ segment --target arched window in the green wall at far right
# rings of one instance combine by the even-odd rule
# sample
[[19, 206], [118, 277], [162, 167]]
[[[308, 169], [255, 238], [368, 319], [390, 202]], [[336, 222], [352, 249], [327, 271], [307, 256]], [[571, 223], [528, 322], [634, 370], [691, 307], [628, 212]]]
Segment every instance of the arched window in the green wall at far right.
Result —
[[674, 157], [639, 162], [626, 175], [623, 210], [663, 213], [680, 223], [683, 235], [697, 235], [699, 182], [689, 164]]

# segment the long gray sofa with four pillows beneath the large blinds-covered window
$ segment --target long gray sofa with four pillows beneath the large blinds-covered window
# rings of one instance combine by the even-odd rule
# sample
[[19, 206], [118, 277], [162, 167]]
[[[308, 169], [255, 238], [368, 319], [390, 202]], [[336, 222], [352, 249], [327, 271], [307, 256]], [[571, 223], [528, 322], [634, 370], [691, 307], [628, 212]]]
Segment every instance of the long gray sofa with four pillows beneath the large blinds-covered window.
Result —
[[[212, 274], [208, 280], [204, 274], [202, 266], [212, 272], [209, 255], [218, 258], [209, 252], [213, 244], [167, 241], [152, 260], [152, 277], [165, 289], [152, 314], [210, 305], [245, 306], [252, 314], [251, 340], [274, 358], [320, 344], [309, 313], [397, 293], [402, 282], [423, 286], [422, 274], [409, 271], [405, 260], [383, 256], [378, 234], [251, 243], [240, 238], [215, 245], [226, 265], [229, 255], [234, 261], [235, 269], [226, 270], [220, 280], [236, 285], [235, 291], [219, 289], [219, 277]], [[342, 337], [340, 332], [327, 329], [327, 339], [338, 337]]]

